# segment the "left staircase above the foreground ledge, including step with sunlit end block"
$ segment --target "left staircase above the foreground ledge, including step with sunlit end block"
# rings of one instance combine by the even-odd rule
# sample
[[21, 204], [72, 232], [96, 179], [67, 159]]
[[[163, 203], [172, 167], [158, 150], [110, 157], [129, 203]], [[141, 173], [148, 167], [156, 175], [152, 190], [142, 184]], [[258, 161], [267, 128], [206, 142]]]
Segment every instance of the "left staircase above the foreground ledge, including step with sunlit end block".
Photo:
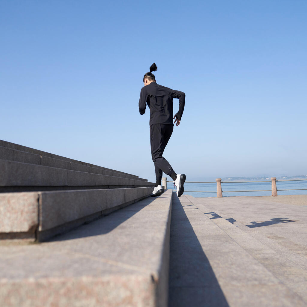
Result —
[[138, 176], [0, 140], [0, 239], [41, 242], [151, 194]]

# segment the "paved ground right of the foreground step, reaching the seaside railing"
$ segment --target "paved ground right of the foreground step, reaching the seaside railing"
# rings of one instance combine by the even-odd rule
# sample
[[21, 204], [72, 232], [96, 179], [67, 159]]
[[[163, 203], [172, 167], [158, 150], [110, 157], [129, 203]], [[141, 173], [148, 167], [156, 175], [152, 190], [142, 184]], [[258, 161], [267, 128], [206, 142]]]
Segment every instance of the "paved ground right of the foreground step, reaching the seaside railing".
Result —
[[307, 306], [307, 195], [173, 197], [169, 306]]

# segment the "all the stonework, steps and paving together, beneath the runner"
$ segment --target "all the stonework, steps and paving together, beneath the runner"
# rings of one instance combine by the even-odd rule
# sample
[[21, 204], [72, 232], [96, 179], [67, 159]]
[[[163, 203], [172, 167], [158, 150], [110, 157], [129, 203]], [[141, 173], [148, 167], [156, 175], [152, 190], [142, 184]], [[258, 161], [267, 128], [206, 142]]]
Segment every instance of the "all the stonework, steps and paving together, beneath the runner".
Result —
[[0, 306], [307, 305], [307, 195], [153, 185], [0, 140]]

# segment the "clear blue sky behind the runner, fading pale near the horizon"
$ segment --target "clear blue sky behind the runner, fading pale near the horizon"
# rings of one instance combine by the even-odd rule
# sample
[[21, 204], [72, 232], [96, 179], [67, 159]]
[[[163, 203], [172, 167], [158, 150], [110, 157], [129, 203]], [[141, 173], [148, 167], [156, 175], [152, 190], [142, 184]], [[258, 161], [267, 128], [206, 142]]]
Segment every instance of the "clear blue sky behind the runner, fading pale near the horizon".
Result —
[[[0, 139], [155, 180], [142, 77], [186, 93], [187, 180], [307, 174], [307, 2], [0, 2]], [[174, 99], [177, 112], [178, 99]]]

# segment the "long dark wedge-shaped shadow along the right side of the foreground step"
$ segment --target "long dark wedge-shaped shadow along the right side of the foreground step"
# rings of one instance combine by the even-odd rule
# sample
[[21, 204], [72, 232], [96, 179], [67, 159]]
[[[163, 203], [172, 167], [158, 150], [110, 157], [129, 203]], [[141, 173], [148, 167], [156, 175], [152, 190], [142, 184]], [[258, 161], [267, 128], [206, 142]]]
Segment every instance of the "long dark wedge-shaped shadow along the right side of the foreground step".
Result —
[[169, 262], [169, 307], [174, 306], [229, 306], [177, 197], [173, 197]]

